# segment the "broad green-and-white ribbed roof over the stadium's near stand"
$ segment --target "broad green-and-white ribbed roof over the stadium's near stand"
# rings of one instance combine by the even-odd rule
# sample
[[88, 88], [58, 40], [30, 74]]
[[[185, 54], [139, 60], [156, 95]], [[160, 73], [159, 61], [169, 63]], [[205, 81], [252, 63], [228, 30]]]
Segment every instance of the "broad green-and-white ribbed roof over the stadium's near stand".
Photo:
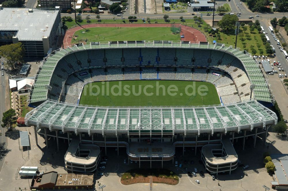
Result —
[[93, 107], [47, 100], [25, 116], [26, 125], [90, 133], [214, 133], [276, 124], [255, 100], [206, 107]]

